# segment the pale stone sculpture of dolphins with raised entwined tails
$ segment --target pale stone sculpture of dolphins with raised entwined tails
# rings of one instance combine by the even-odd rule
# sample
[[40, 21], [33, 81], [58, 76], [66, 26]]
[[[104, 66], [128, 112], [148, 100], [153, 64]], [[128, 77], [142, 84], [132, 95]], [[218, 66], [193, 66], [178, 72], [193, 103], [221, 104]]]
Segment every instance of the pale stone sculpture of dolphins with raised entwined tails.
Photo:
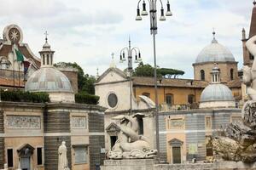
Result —
[[113, 117], [113, 120], [120, 121], [120, 133], [109, 152], [110, 159], [145, 159], [156, 156], [157, 150], [151, 150], [148, 139], [138, 134], [137, 116], [136, 114]]

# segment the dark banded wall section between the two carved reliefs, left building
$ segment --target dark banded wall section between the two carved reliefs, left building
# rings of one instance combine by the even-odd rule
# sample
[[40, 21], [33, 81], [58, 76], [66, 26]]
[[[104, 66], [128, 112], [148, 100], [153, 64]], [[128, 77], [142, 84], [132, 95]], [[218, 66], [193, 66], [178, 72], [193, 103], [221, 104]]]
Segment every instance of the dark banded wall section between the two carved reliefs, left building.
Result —
[[70, 133], [69, 112], [44, 112], [44, 133]]

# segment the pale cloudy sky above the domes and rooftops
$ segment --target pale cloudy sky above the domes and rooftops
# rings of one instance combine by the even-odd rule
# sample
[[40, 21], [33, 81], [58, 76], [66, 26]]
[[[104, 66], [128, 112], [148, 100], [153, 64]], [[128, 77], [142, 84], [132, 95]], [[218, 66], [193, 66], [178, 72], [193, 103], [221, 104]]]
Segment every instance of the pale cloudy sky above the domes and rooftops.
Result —
[[[128, 46], [129, 37], [131, 47], [140, 49], [143, 63], [154, 65], [149, 16], [135, 20], [137, 2], [0, 0], [0, 32], [10, 24], [20, 26], [23, 42], [39, 57], [48, 31], [55, 63], [76, 62], [93, 76], [97, 68], [100, 75], [108, 69], [112, 53], [119, 69], [127, 67], [127, 62], [119, 63], [119, 53]], [[162, 2], [166, 9], [166, 0]], [[157, 65], [185, 71], [182, 78], [193, 78], [192, 64], [211, 43], [214, 28], [218, 42], [230, 49], [241, 69], [241, 29], [249, 31], [253, 0], [170, 0], [170, 4], [172, 17], [158, 20]], [[157, 8], [160, 15], [159, 1]]]

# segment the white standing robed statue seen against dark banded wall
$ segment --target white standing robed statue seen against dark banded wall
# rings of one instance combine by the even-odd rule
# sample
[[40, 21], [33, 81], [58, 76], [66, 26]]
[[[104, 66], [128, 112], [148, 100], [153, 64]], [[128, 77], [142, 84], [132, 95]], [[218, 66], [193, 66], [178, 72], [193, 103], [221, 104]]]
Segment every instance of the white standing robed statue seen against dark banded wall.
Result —
[[59, 154], [59, 162], [58, 162], [58, 170], [69, 170], [68, 162], [67, 162], [67, 147], [66, 142], [62, 141], [58, 154]]

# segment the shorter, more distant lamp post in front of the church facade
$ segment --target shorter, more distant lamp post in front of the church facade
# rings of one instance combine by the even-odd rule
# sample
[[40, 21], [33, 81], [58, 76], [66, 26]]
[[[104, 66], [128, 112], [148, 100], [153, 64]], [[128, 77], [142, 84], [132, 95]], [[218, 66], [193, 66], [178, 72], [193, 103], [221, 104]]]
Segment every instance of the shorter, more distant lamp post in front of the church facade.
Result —
[[122, 48], [120, 51], [120, 62], [124, 62], [125, 59], [125, 53], [128, 55], [128, 77], [130, 79], [130, 115], [132, 113], [132, 82], [131, 82], [131, 76], [132, 76], [132, 56], [135, 54], [135, 63], [141, 62], [141, 52], [140, 49], [137, 47], [131, 48], [131, 40], [129, 37], [129, 45], [128, 47]]

